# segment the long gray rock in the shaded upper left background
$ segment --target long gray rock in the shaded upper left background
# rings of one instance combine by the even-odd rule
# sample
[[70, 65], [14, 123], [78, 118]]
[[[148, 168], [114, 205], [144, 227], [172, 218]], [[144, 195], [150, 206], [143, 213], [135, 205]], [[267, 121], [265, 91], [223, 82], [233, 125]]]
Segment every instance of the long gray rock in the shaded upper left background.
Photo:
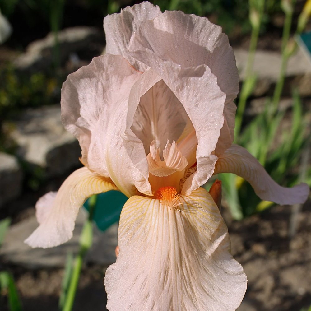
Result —
[[[82, 51], [88, 59], [100, 55], [104, 47], [104, 31], [94, 27], [77, 26], [66, 28], [58, 32], [59, 57], [64, 63], [77, 51]], [[49, 33], [44, 39], [39, 39], [26, 49], [26, 53], [19, 56], [14, 65], [17, 69], [36, 71], [49, 69], [53, 65], [53, 48], [55, 37]], [[77, 69], [77, 68], [75, 68]]]

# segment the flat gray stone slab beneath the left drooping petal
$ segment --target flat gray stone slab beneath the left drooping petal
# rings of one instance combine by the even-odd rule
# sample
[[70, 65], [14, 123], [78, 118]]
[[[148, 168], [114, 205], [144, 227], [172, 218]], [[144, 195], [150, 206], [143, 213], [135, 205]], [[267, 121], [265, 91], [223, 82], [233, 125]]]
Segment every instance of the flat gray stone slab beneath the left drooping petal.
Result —
[[[81, 210], [77, 220], [73, 238], [67, 243], [53, 248], [30, 248], [24, 240], [37, 228], [35, 216], [12, 225], [0, 248], [2, 260], [28, 268], [63, 267], [67, 254], [76, 255], [79, 251], [80, 233], [87, 218], [86, 211]], [[115, 262], [115, 248], [118, 245], [118, 224], [101, 232], [94, 225], [93, 245], [86, 255], [86, 262], [108, 266]]]

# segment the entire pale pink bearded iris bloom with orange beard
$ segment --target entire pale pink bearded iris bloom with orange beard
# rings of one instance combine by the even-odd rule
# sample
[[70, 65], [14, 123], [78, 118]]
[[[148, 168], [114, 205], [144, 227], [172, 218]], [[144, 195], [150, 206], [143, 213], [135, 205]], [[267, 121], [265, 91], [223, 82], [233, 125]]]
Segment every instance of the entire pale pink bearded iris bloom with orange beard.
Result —
[[235, 310], [247, 279], [213, 197], [200, 187], [235, 173], [279, 204], [304, 202], [308, 187], [280, 187], [232, 145], [239, 76], [219, 26], [143, 2], [105, 17], [104, 29], [106, 54], [62, 89], [62, 121], [85, 166], [38, 201], [40, 225], [26, 243], [66, 242], [86, 198], [118, 189], [128, 201], [119, 255], [104, 280], [107, 308]]

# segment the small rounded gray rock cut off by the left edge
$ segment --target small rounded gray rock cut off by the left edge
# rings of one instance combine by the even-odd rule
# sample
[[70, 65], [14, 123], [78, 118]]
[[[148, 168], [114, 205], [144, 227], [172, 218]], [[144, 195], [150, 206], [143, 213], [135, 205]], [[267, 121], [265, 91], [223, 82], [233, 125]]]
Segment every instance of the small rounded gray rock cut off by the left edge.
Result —
[[0, 152], [0, 207], [20, 195], [22, 178], [16, 158]]

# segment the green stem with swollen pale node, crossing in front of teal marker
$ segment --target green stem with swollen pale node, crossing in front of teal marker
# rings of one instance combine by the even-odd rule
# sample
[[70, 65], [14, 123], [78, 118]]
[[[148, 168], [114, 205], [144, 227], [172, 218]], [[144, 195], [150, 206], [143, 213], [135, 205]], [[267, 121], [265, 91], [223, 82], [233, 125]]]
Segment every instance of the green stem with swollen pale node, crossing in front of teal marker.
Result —
[[65, 304], [63, 307], [63, 311], [71, 311], [74, 303], [74, 299], [77, 292], [78, 282], [81, 274], [81, 267], [83, 263], [83, 259], [92, 246], [93, 242], [93, 214], [95, 210], [97, 196], [94, 195], [90, 198], [90, 213], [88, 220], [84, 224], [80, 236], [80, 250], [75, 258], [74, 267], [72, 271], [72, 276], [69, 284], [68, 293], [66, 296]]

